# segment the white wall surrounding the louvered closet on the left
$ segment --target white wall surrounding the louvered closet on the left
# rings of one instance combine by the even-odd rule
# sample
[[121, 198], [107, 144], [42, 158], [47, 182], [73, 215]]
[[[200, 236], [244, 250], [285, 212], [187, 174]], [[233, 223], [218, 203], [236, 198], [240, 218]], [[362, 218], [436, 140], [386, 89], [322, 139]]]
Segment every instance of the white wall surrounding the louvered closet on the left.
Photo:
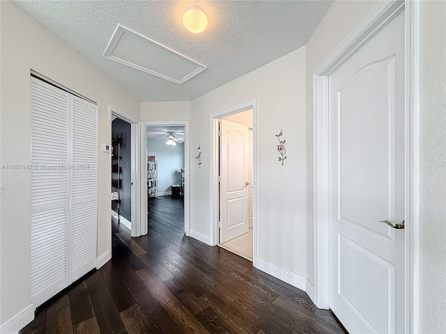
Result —
[[[10, 1], [1, 8], [1, 162], [30, 164], [30, 69], [98, 102], [99, 144], [109, 143], [109, 104], [139, 118], [139, 102]], [[98, 255], [109, 249], [109, 154], [98, 148]], [[30, 303], [31, 173], [2, 170], [0, 323]]]

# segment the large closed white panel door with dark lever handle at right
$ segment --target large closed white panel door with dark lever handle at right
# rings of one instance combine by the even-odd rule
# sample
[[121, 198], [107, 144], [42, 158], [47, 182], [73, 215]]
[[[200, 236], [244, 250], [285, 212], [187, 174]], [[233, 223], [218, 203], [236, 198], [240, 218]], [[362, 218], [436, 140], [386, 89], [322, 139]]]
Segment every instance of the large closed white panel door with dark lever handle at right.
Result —
[[404, 332], [404, 14], [329, 78], [330, 308]]

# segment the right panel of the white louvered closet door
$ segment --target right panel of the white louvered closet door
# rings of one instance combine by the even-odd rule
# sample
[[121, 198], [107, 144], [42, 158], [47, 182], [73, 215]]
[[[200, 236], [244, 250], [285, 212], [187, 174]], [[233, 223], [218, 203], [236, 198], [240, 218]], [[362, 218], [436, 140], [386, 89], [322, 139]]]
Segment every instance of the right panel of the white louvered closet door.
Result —
[[96, 267], [97, 106], [70, 95], [72, 106], [70, 284]]

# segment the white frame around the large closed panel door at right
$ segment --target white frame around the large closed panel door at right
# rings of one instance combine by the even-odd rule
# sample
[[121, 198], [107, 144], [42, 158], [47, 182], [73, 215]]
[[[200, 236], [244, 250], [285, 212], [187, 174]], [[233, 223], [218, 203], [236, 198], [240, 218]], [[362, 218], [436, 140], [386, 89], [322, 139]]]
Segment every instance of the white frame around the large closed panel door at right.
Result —
[[[417, 328], [418, 257], [418, 17], [417, 1], [379, 1], [323, 61], [313, 75], [314, 303], [330, 308], [330, 224], [328, 220], [328, 77], [401, 11], [406, 16], [406, 333]], [[401, 282], [404, 284], [404, 282]]]

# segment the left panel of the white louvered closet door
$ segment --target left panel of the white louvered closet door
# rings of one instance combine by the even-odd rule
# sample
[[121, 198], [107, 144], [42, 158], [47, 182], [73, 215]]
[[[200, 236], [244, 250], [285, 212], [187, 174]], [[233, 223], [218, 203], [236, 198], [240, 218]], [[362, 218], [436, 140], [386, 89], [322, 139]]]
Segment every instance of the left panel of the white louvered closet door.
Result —
[[31, 300], [68, 285], [68, 93], [31, 78]]

